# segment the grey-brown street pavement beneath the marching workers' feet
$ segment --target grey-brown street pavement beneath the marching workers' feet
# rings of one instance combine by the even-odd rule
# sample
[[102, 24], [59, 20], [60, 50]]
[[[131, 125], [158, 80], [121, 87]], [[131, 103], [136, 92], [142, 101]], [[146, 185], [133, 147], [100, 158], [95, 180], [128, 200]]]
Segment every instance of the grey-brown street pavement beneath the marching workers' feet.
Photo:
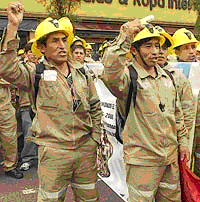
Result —
[[[0, 152], [0, 162], [2, 161]], [[0, 202], [36, 202], [38, 192], [37, 165], [25, 171], [23, 179], [5, 176], [0, 166]], [[98, 190], [100, 202], [124, 202], [104, 181], [99, 179]], [[69, 186], [65, 202], [74, 202], [74, 196]]]

